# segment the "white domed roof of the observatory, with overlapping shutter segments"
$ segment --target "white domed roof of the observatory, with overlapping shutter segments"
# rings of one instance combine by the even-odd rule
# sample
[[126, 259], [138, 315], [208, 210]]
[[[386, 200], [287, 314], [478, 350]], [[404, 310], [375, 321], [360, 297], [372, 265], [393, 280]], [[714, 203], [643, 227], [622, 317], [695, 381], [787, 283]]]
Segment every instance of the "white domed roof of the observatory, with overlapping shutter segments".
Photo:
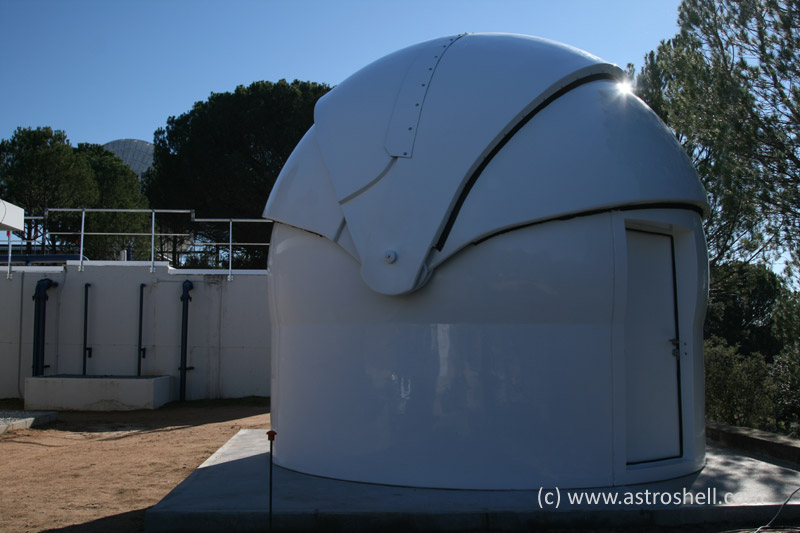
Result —
[[535, 37], [411, 46], [325, 95], [264, 216], [325, 236], [383, 294], [421, 287], [471, 242], [626, 206], [703, 213], [669, 129], [615, 65]]

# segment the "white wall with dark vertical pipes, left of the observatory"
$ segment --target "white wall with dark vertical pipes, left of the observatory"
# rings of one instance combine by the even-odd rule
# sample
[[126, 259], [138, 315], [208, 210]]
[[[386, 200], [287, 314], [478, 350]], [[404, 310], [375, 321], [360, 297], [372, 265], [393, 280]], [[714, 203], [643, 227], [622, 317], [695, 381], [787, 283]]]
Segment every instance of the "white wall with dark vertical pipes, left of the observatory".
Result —
[[66, 267], [17, 267], [0, 279], [0, 398], [23, 396], [31, 375], [33, 294], [44, 278], [48, 291], [45, 375], [80, 374], [83, 368], [84, 286], [90, 283], [90, 375], [136, 375], [139, 285], [144, 284], [142, 375], [180, 371], [182, 284], [191, 280], [186, 398], [269, 396], [269, 317], [266, 271], [174, 270], [166, 263], [77, 262]]

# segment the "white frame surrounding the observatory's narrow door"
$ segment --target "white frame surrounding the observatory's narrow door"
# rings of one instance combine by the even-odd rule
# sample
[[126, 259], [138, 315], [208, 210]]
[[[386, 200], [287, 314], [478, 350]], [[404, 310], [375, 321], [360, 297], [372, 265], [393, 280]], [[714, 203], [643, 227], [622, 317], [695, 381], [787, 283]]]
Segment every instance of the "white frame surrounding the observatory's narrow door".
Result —
[[[693, 211], [639, 209], [614, 211], [614, 302], [611, 358], [613, 372], [614, 485], [643, 483], [684, 475], [702, 468], [705, 460], [705, 402], [703, 383], [703, 320], [708, 291], [708, 258], [702, 221]], [[670, 236], [678, 361], [680, 456], [627, 463], [625, 315], [628, 284], [627, 230]]]

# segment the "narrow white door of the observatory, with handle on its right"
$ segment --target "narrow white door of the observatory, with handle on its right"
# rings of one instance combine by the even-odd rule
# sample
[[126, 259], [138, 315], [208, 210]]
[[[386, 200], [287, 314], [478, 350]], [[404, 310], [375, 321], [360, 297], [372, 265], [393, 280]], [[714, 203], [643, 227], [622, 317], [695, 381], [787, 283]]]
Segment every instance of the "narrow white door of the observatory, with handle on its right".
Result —
[[627, 230], [627, 463], [682, 455], [672, 237]]

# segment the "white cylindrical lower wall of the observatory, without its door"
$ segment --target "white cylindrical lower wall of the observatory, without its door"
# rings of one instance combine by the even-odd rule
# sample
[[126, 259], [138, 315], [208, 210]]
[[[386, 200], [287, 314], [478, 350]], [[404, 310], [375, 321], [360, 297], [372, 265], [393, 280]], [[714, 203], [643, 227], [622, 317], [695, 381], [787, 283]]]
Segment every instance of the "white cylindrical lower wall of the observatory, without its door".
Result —
[[[697, 214], [658, 214], [692, 250], [702, 245]], [[399, 297], [369, 289], [335, 243], [276, 224], [268, 274], [276, 463], [469, 489], [605, 486], [697, 470], [703, 451], [689, 445], [685, 458], [644, 474], [628, 474], [615, 455], [624, 446], [625, 354], [615, 337], [624, 331], [625, 220], [607, 212], [497, 235]], [[680, 261], [694, 309], [704, 259], [692, 251]], [[693, 442], [702, 401], [684, 393], [684, 438]]]

